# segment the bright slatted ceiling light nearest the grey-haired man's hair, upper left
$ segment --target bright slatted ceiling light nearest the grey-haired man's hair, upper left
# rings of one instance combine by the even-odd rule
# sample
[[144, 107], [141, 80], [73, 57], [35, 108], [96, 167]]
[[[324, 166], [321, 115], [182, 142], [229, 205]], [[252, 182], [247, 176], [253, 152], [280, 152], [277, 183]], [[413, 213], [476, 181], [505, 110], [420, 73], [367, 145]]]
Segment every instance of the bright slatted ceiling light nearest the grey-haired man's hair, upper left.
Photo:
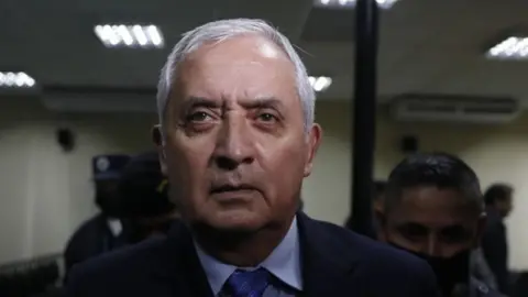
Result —
[[155, 25], [96, 25], [94, 32], [107, 47], [162, 48], [163, 34]]

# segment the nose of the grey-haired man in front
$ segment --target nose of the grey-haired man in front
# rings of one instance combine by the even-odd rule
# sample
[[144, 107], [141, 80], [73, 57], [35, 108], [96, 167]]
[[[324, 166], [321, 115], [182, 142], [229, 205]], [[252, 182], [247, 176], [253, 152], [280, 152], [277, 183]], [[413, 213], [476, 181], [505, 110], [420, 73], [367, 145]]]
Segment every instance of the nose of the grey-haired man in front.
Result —
[[233, 170], [242, 164], [254, 161], [254, 140], [245, 119], [228, 118], [218, 134], [215, 151], [216, 165], [224, 170]]

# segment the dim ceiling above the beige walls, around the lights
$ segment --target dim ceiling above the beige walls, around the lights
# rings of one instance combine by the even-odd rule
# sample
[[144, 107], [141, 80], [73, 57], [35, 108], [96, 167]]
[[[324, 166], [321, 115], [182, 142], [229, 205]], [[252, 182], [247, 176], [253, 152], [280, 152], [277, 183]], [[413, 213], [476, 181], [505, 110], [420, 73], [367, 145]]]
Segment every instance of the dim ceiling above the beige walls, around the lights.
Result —
[[[528, 34], [526, 0], [400, 0], [381, 14], [378, 94], [512, 96], [528, 103], [528, 62], [494, 62], [487, 45], [506, 32]], [[209, 20], [271, 21], [302, 48], [311, 75], [333, 78], [322, 99], [350, 99], [354, 11], [311, 0], [3, 0], [0, 70], [24, 70], [42, 86], [154, 89], [179, 35]], [[154, 23], [164, 50], [106, 48], [99, 23]]]

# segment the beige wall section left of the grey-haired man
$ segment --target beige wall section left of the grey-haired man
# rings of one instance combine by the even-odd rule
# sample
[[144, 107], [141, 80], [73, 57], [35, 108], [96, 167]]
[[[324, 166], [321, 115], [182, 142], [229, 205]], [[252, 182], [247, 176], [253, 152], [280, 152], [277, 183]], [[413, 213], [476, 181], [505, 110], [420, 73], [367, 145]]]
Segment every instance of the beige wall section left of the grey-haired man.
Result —
[[[154, 117], [61, 116], [34, 100], [0, 101], [0, 263], [62, 251], [94, 206], [91, 156], [151, 148]], [[75, 131], [64, 153], [55, 131]]]

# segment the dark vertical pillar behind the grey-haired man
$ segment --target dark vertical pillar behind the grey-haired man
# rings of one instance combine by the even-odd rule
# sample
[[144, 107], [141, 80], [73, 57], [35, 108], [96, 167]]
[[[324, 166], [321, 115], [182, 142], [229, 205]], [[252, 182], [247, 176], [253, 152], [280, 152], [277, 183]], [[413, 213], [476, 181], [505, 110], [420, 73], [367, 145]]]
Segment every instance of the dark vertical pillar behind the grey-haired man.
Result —
[[372, 237], [373, 163], [376, 134], [378, 7], [355, 4], [355, 84], [353, 98], [352, 229]]

